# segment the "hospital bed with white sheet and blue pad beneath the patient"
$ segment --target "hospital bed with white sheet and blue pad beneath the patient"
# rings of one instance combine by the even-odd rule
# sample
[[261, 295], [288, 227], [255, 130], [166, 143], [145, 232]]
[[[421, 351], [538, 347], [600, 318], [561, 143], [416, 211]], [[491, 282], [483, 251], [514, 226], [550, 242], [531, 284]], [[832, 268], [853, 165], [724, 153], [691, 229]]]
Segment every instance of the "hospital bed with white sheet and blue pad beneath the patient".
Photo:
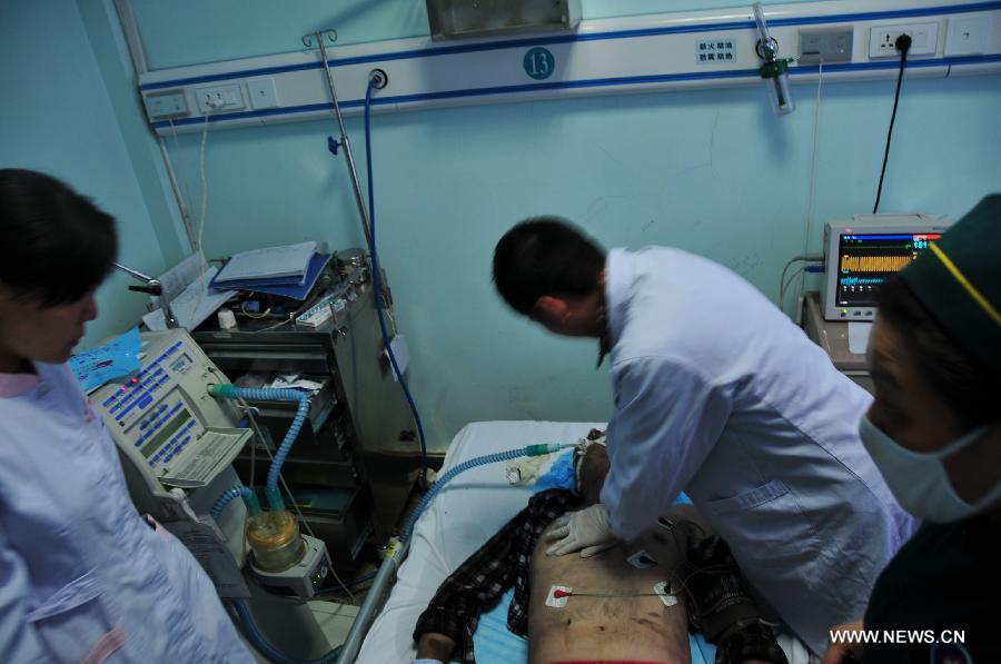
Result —
[[[479, 422], [466, 425], [453, 439], [442, 473], [470, 458], [536, 443], [575, 443], [602, 423]], [[556, 455], [553, 455], [555, 457]], [[551, 464], [547, 457], [542, 472]], [[440, 583], [528, 503], [532, 486], [511, 485], [505, 464], [477, 466], [443, 488], [420, 517], [409, 554], [399, 568], [381, 613], [361, 645], [359, 664], [409, 664], [415, 656], [417, 617]], [[480, 621], [475, 636], [478, 664], [527, 662], [524, 640], [505, 628], [511, 593]], [[780, 640], [790, 664], [807, 662], [805, 648]], [[715, 648], [701, 636], [690, 640], [693, 664], [712, 664]]]

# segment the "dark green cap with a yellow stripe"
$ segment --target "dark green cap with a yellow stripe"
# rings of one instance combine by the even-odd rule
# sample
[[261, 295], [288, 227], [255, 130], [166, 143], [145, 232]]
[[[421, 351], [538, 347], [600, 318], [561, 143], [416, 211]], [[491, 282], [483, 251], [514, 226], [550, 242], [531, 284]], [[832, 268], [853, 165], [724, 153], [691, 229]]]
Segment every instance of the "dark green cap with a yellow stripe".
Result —
[[960, 347], [1001, 376], [1001, 194], [981, 200], [901, 277]]

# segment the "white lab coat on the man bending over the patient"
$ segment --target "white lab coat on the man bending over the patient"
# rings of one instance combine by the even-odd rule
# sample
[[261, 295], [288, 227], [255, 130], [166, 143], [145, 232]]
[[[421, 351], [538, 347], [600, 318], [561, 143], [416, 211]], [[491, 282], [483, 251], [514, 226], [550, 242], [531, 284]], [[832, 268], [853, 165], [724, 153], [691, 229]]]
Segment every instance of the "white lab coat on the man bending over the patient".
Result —
[[914, 529], [859, 439], [871, 397], [717, 264], [651, 247], [606, 267], [613, 532], [686, 492], [765, 611], [823, 653]]

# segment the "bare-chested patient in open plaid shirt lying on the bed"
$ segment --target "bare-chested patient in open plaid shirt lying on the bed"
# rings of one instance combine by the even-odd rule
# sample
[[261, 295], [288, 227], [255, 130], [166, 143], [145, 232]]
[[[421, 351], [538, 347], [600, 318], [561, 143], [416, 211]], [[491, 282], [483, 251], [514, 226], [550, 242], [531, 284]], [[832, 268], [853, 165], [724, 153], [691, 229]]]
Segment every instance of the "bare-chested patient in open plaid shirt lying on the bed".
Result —
[[533, 496], [442, 584], [414, 632], [418, 658], [475, 662], [479, 613], [513, 585], [508, 627], [527, 635], [531, 664], [690, 662], [690, 615], [718, 644], [717, 664], [785, 663], [725, 544], [710, 537], [690, 505], [675, 506], [628, 545], [589, 558], [546, 556], [556, 516], [597, 501], [608, 468], [604, 447], [589, 447], [578, 468], [579, 495]]

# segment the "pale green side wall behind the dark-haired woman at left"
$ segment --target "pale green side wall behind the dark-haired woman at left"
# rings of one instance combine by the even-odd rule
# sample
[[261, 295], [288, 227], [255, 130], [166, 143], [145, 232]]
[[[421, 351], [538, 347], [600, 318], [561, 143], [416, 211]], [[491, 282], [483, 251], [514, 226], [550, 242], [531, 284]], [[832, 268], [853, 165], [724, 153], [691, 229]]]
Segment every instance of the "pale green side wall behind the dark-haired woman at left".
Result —
[[[119, 257], [133, 267], [158, 272], [180, 256], [159, 184], [142, 181], [153, 162], [145, 155], [133, 158], [152, 139], [148, 131], [129, 143], [123, 138], [75, 3], [0, 2], [0, 168], [41, 170], [93, 198], [118, 219]], [[137, 109], [132, 121], [141, 125]], [[156, 219], [151, 209], [158, 197]], [[88, 326], [83, 346], [123, 331], [145, 310], [143, 296], [128, 293], [128, 284], [113, 275], [98, 291], [101, 313]]]

